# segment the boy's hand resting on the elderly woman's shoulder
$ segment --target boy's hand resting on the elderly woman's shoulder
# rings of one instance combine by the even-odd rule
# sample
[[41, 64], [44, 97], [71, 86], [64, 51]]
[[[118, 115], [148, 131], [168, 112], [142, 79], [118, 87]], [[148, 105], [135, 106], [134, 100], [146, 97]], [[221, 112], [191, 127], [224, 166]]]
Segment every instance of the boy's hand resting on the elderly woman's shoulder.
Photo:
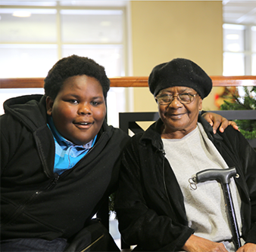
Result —
[[236, 125], [235, 121], [228, 121], [226, 118], [224, 118], [221, 115], [218, 115], [218, 114], [215, 114], [212, 112], [206, 112], [206, 113], [202, 114], [201, 116], [204, 117], [204, 119], [206, 121], [208, 121], [209, 124], [211, 124], [211, 126], [214, 130], [214, 134], [216, 133], [217, 128], [220, 127], [220, 132], [223, 132], [223, 131], [225, 131], [225, 128], [228, 125], [233, 126], [233, 128], [235, 130], [239, 129], [238, 126]]

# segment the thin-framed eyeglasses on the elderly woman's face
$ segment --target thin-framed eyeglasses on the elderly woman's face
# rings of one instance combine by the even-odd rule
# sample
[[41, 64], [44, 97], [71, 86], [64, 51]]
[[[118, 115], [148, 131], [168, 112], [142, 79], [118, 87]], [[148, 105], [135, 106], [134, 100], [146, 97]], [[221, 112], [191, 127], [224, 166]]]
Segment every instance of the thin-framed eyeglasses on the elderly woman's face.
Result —
[[159, 105], [169, 105], [173, 102], [174, 97], [176, 97], [180, 103], [183, 104], [189, 104], [192, 103], [193, 100], [195, 100], [195, 96], [198, 94], [190, 94], [190, 93], [183, 93], [183, 94], [177, 94], [177, 95], [171, 95], [171, 94], [160, 94], [157, 97], [155, 97], [156, 100], [158, 100]]

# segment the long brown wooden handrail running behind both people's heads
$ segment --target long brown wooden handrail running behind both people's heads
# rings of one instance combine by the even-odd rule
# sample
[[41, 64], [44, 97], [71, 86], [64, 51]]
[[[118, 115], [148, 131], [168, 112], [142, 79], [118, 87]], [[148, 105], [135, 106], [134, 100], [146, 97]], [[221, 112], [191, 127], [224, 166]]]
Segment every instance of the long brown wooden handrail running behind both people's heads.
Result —
[[[210, 76], [214, 87], [256, 86], [255, 75]], [[110, 78], [111, 87], [148, 87], [148, 77]], [[0, 78], [0, 88], [43, 88], [44, 78]]]

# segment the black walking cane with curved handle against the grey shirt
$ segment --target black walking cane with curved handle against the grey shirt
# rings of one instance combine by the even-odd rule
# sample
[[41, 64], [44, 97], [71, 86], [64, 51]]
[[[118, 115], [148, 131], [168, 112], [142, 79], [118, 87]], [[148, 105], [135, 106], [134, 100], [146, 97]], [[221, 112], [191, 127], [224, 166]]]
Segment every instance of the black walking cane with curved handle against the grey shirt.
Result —
[[241, 247], [239, 226], [236, 220], [236, 213], [233, 205], [233, 199], [229, 188], [230, 178], [236, 175], [236, 167], [229, 169], [208, 169], [195, 174], [196, 183], [208, 180], [217, 180], [221, 184], [226, 203], [226, 212], [229, 220], [229, 226], [233, 236], [233, 242], [236, 250]]

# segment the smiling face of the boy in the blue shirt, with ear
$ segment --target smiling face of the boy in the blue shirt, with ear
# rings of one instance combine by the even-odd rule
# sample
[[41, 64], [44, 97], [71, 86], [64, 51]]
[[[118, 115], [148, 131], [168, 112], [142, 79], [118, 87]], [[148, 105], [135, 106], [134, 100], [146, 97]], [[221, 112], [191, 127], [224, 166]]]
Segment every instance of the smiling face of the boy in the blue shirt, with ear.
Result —
[[46, 98], [58, 132], [76, 145], [92, 140], [105, 119], [105, 98], [100, 83], [87, 75], [67, 78], [55, 100]]

